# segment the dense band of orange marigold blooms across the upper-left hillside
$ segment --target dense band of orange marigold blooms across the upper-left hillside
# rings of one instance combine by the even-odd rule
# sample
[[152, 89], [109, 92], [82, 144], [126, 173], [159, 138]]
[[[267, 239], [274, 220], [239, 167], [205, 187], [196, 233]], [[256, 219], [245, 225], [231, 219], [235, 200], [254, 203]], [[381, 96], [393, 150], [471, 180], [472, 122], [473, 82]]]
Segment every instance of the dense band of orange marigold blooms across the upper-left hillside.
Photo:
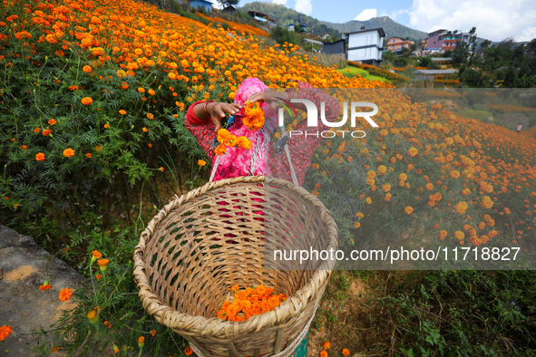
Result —
[[[5, 4], [6, 14], [14, 4]], [[67, 49], [87, 54], [92, 61], [84, 64], [91, 67], [91, 71], [84, 65], [84, 76], [96, 76], [102, 68], [110, 68], [111, 63], [113, 72], [122, 71], [118, 74], [120, 78], [123, 72], [130, 77], [141, 77], [158, 70], [165, 72], [173, 82], [191, 81], [198, 89], [203, 84], [202, 91], [195, 92], [192, 88], [199, 97], [210, 95], [217, 87], [234, 92], [232, 86], [252, 76], [273, 88], [295, 87], [297, 81], [322, 88], [390, 86], [357, 76], [348, 78], [335, 68], [311, 62], [307, 54], [297, 52], [297, 44], [267, 47], [252, 34], [268, 34], [254, 26], [227, 22], [233, 29], [229, 31], [161, 11], [146, 2], [38, 1], [28, 9], [28, 14], [21, 14], [12, 21], [18, 28], [27, 27], [24, 22], [35, 25], [33, 37], [25, 40], [29, 51], [33, 51], [36, 43], [48, 43], [57, 47], [58, 55]], [[6, 34], [6, 40], [11, 36], [15, 37]], [[228, 71], [229, 75], [223, 75]], [[70, 85], [70, 90], [78, 90], [77, 84]], [[128, 84], [125, 86], [128, 88]], [[91, 97], [83, 98], [84, 105], [92, 102]]]

